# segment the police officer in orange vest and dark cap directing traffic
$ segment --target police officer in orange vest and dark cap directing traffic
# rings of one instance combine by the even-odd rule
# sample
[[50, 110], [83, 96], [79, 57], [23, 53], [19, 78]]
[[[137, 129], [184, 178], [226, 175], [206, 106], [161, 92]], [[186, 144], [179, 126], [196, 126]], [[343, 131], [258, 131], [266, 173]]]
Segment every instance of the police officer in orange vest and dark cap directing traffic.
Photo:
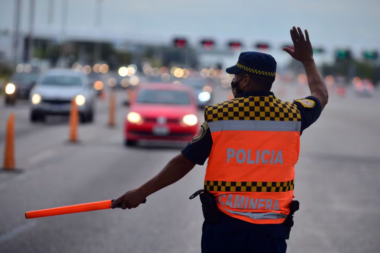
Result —
[[204, 194], [215, 201], [217, 219], [208, 219], [204, 212], [202, 253], [286, 252], [285, 224], [293, 213], [299, 138], [328, 100], [307, 31], [304, 37], [300, 28], [293, 27], [290, 35], [294, 50], [283, 50], [304, 65], [311, 96], [279, 100], [270, 92], [276, 75], [274, 58], [260, 52], [241, 53], [237, 64], [226, 69], [235, 75], [234, 99], [206, 107], [205, 122], [182, 152], [112, 207], [137, 207], [209, 158]]

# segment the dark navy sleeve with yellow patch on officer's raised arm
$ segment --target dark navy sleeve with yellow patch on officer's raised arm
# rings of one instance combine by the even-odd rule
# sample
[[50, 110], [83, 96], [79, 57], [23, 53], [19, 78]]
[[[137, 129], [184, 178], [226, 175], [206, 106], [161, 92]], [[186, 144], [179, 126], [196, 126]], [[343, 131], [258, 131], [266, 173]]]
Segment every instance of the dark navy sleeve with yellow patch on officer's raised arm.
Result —
[[304, 99], [299, 99], [294, 101], [297, 108], [301, 113], [301, 134], [302, 132], [311, 126], [322, 112], [321, 102], [313, 96], [306, 97]]

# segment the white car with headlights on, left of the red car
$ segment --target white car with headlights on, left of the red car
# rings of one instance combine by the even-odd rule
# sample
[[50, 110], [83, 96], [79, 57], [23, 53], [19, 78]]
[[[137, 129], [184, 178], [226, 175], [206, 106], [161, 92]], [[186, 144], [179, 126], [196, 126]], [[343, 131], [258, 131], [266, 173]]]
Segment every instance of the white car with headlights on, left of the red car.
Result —
[[72, 69], [50, 69], [40, 76], [30, 93], [30, 121], [44, 121], [47, 115], [69, 115], [74, 99], [80, 122], [92, 122], [95, 97], [86, 75]]

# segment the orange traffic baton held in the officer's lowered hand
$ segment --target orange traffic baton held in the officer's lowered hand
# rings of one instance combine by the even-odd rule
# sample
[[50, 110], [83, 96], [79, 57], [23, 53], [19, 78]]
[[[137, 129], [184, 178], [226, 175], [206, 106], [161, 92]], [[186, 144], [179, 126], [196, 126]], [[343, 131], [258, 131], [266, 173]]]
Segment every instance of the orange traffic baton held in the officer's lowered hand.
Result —
[[[47, 217], [47, 216], [74, 214], [74, 213], [82, 213], [82, 212], [89, 212], [89, 211], [96, 211], [96, 210], [103, 210], [103, 209], [111, 209], [112, 207], [110, 207], [110, 205], [114, 201], [115, 201], [114, 199], [104, 200], [104, 201], [97, 201], [97, 202], [91, 202], [91, 203], [67, 205], [67, 206], [54, 207], [54, 208], [49, 208], [49, 209], [30, 211], [30, 212], [25, 213], [25, 218], [33, 219], [33, 218], [41, 218], [41, 217]], [[145, 203], [145, 202], [147, 202], [146, 199], [142, 203]], [[118, 203], [114, 208], [120, 208], [120, 203]]]

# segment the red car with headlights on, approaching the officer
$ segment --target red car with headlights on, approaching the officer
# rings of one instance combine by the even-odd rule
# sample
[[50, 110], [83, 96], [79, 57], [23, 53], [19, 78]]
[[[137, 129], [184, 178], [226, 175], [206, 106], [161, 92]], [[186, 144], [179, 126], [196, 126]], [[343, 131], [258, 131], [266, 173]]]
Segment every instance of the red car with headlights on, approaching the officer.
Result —
[[134, 146], [138, 140], [190, 141], [198, 131], [193, 94], [185, 85], [140, 86], [125, 119], [125, 145]]

